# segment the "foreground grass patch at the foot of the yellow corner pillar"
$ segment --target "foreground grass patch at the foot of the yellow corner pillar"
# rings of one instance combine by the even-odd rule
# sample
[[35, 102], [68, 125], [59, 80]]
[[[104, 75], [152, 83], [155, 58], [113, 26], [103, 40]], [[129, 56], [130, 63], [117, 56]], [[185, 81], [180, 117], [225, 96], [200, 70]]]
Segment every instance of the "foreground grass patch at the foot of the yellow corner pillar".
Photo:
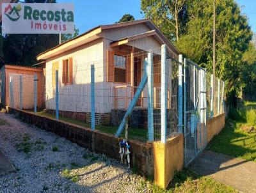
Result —
[[[143, 181], [141, 182], [141, 188], [147, 185]], [[177, 173], [170, 183], [167, 190], [163, 190], [152, 183], [148, 183], [148, 186], [154, 193], [162, 192], [237, 192], [232, 187], [214, 181], [212, 178], [206, 178], [198, 176], [190, 171], [184, 169]]]

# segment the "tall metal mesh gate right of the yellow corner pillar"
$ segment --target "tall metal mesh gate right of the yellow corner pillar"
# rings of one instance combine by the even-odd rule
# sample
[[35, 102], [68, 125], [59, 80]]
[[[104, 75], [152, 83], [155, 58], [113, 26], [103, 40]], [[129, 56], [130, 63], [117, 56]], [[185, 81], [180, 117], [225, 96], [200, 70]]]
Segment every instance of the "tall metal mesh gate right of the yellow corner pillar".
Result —
[[206, 134], [206, 71], [184, 59], [184, 163], [204, 150]]

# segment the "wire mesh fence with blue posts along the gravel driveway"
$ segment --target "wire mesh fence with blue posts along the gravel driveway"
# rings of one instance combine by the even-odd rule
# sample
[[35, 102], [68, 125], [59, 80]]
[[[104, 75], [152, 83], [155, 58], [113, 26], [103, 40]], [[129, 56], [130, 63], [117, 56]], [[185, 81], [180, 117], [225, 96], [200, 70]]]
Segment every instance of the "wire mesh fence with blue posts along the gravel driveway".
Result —
[[[7, 104], [87, 128], [95, 122], [96, 130], [115, 135], [128, 114], [119, 136], [125, 137], [126, 127], [128, 139], [161, 141], [161, 50], [124, 46], [102, 54], [78, 50], [52, 58], [45, 63], [41, 75], [11, 75]], [[167, 51], [167, 137], [177, 134], [178, 120], [178, 63], [172, 58]]]

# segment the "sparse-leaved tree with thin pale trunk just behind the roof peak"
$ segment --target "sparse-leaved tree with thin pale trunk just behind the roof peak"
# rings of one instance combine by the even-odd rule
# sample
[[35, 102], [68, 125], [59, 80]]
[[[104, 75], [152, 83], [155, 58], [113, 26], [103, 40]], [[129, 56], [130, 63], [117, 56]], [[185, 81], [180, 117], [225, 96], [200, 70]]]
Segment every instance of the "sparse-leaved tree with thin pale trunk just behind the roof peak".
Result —
[[141, 0], [141, 11], [163, 31], [170, 40], [179, 41], [180, 16], [186, 0]]

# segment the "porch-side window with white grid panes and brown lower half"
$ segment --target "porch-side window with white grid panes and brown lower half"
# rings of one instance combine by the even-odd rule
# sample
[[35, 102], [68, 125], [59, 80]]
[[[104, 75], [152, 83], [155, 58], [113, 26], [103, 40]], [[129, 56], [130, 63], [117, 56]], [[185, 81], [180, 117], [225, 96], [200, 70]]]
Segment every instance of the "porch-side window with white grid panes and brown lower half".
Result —
[[115, 82], [126, 82], [126, 58], [120, 54], [114, 55]]

